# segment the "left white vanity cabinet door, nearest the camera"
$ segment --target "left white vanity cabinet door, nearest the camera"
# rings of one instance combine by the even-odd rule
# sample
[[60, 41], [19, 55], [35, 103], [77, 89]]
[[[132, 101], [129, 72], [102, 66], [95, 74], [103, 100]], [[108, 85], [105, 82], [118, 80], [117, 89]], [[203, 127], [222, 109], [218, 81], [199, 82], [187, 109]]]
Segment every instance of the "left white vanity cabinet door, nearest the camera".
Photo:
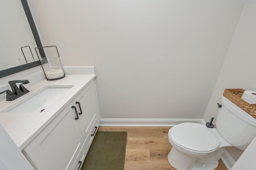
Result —
[[[22, 151], [35, 169], [70, 170], [81, 143], [74, 127], [71, 103]], [[43, 114], [43, 113], [42, 113]]]

